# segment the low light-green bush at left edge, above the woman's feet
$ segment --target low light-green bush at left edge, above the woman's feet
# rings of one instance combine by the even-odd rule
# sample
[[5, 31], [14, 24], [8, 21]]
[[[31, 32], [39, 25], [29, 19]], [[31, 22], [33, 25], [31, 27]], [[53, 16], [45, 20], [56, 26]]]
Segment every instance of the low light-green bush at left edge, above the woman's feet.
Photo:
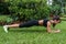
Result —
[[0, 15], [0, 25], [12, 23], [12, 19], [9, 15]]

